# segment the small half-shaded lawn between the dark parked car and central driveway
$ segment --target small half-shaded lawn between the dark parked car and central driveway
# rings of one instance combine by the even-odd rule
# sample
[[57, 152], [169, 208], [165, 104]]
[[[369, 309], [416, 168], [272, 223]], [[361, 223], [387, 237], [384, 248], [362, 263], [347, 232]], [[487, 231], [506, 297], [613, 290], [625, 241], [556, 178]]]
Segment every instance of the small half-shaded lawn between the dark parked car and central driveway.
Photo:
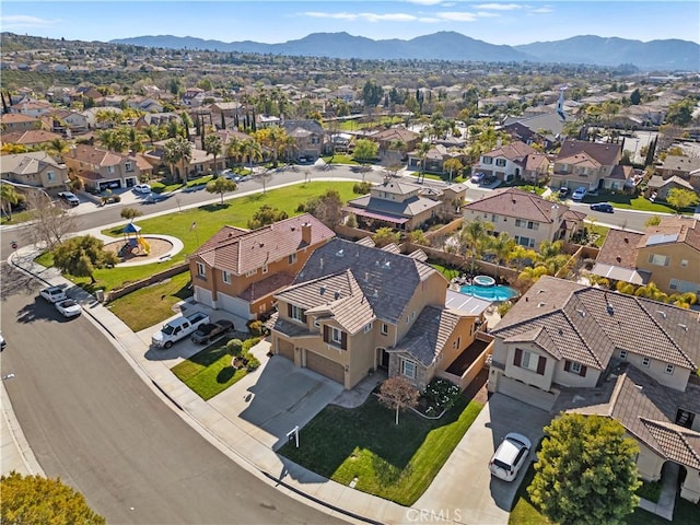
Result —
[[205, 401], [211, 399], [248, 374], [247, 370], [231, 365], [233, 355], [226, 351], [226, 342], [238, 336], [243, 336], [240, 337], [242, 340], [245, 338], [238, 332], [224, 338], [176, 364], [171, 372]]

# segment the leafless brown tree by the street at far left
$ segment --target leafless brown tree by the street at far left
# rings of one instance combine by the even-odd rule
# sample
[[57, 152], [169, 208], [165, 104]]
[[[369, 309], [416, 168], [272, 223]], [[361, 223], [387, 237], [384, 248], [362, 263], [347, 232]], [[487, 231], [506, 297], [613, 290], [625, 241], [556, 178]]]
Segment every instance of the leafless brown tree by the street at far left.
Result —
[[32, 220], [28, 234], [33, 243], [44, 245], [50, 250], [69, 233], [75, 231], [75, 215], [59, 206], [54, 206], [45, 192], [32, 191], [27, 194], [26, 200]]

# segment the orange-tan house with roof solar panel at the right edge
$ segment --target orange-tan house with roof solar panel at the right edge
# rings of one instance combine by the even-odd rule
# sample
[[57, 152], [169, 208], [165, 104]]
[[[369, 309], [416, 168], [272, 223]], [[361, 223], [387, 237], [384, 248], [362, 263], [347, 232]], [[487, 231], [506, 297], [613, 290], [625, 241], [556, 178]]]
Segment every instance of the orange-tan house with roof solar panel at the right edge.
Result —
[[664, 217], [644, 233], [610, 230], [592, 272], [632, 284], [654, 282], [664, 293], [700, 295], [700, 221]]

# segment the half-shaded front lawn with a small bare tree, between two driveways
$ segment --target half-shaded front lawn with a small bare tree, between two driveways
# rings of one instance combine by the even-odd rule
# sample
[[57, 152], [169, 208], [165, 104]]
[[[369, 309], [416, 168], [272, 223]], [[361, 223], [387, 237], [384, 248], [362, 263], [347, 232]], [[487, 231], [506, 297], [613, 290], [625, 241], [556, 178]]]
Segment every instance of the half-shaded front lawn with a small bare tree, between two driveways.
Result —
[[430, 486], [482, 405], [460, 397], [440, 420], [395, 412], [374, 396], [354, 409], [324, 408], [300, 433], [300, 448], [285, 444], [279, 453], [293, 462], [355, 489], [401, 505], [411, 505]]

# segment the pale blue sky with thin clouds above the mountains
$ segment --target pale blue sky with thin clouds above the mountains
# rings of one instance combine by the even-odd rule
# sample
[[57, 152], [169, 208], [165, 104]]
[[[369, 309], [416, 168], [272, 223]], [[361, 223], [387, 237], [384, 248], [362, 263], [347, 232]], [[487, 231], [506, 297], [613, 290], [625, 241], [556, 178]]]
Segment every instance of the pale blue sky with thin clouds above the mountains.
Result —
[[276, 44], [311, 33], [375, 40], [454, 31], [520, 45], [578, 35], [700, 43], [698, 0], [2, 0], [0, 31], [108, 42], [144, 35]]

